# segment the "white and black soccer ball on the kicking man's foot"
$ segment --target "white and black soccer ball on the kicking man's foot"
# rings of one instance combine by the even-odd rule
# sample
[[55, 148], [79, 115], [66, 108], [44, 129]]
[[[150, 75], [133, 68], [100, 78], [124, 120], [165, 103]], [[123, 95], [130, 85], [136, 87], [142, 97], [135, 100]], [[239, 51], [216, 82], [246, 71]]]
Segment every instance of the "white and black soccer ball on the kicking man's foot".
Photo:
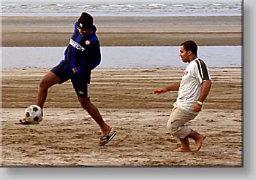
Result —
[[28, 122], [37, 124], [42, 121], [42, 109], [37, 105], [31, 105], [25, 109], [25, 119]]

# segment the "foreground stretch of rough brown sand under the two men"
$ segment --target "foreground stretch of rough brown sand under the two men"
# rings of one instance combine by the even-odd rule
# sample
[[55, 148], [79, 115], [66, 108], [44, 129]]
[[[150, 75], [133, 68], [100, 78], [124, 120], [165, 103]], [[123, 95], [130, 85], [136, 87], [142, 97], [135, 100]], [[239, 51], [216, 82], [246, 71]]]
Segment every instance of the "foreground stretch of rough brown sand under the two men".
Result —
[[[152, 90], [181, 79], [183, 69], [95, 69], [91, 101], [118, 133], [98, 146], [99, 127], [83, 109], [70, 82], [50, 88], [39, 125], [16, 124], [34, 104], [48, 69], [2, 69], [1, 165], [15, 166], [241, 166], [241, 69], [210, 69], [211, 93], [189, 122], [206, 134], [200, 152], [172, 152], [179, 143], [165, 128], [177, 93]], [[192, 148], [194, 142], [191, 141]]]

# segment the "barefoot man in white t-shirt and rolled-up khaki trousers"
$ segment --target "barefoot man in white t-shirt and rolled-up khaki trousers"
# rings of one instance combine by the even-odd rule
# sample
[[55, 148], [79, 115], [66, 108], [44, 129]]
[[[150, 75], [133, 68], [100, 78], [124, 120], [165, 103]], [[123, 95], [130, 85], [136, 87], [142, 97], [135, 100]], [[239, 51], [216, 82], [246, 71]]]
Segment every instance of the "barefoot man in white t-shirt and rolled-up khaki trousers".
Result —
[[173, 104], [167, 129], [170, 134], [179, 138], [181, 147], [174, 152], [192, 152], [189, 147], [189, 139], [195, 140], [195, 152], [198, 152], [206, 136], [195, 132], [185, 125], [193, 120], [203, 106], [203, 101], [211, 89], [211, 77], [206, 63], [197, 58], [197, 44], [193, 41], [183, 42], [179, 56], [184, 63], [189, 63], [184, 71], [181, 82], [158, 90], [154, 93], [160, 94], [167, 91], [178, 90], [178, 98]]

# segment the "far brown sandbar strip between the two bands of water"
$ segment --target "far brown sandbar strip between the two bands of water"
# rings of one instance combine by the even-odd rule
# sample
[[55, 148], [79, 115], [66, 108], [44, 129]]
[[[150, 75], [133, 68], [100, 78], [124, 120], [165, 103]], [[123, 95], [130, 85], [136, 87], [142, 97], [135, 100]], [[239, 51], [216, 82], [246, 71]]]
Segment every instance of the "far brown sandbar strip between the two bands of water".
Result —
[[[3, 47], [64, 47], [78, 17], [1, 17]], [[239, 16], [94, 17], [102, 46], [241, 45]]]

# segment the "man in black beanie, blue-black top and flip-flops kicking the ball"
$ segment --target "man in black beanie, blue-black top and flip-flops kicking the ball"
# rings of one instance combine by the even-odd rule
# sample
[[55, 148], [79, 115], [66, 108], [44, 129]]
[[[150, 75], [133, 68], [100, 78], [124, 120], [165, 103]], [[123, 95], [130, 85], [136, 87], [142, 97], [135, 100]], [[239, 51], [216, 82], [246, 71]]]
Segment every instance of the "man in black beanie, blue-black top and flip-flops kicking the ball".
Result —
[[[51, 69], [39, 84], [37, 105], [43, 108], [49, 87], [71, 79], [81, 106], [101, 128], [102, 136], [99, 145], [105, 145], [116, 136], [116, 132], [110, 132], [110, 126], [104, 122], [99, 110], [90, 101], [91, 70], [97, 67], [101, 60], [99, 40], [95, 34], [97, 29], [93, 23], [93, 17], [88, 13], [83, 12], [80, 15], [64, 52], [64, 60]], [[20, 123], [30, 124], [26, 120], [20, 120]]]

